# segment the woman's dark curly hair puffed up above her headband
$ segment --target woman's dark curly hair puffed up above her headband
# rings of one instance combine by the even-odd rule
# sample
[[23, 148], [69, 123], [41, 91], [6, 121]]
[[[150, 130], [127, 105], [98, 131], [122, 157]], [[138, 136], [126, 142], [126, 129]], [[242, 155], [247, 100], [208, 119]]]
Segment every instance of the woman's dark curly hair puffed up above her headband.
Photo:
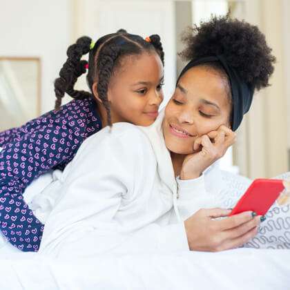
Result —
[[[182, 59], [190, 61], [223, 55], [240, 78], [252, 88], [260, 90], [269, 86], [276, 58], [271, 55], [272, 50], [257, 26], [231, 19], [229, 14], [211, 17], [210, 21], [189, 28], [182, 41], [186, 43], [186, 48], [179, 54]], [[211, 66], [211, 63], [206, 66]]]

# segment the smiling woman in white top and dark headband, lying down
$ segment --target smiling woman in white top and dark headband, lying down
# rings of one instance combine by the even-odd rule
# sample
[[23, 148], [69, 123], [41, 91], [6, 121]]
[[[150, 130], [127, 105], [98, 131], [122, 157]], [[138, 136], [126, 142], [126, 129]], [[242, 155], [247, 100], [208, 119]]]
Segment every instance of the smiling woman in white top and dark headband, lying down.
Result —
[[274, 57], [244, 21], [213, 18], [193, 32], [183, 53], [189, 64], [155, 123], [115, 124], [81, 145], [58, 184], [41, 253], [220, 251], [256, 235], [262, 217], [251, 211], [214, 219], [230, 211], [215, 208], [219, 176], [208, 168], [235, 141]]

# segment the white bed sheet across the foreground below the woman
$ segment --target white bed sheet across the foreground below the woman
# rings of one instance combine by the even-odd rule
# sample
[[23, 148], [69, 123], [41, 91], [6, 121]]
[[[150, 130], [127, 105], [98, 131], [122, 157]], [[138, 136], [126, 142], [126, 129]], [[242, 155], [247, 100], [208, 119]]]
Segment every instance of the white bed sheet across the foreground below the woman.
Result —
[[290, 289], [290, 251], [285, 250], [99, 255], [74, 261], [30, 254], [0, 260], [0, 289]]

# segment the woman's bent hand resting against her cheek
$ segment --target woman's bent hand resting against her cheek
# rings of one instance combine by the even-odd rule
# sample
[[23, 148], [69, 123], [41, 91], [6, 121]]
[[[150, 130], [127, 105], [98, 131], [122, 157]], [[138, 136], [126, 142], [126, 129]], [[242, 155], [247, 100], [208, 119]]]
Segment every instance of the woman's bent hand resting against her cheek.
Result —
[[195, 153], [187, 155], [182, 164], [181, 180], [200, 177], [202, 172], [220, 159], [226, 150], [235, 142], [235, 133], [222, 125], [218, 131], [211, 131], [197, 137], [193, 144]]

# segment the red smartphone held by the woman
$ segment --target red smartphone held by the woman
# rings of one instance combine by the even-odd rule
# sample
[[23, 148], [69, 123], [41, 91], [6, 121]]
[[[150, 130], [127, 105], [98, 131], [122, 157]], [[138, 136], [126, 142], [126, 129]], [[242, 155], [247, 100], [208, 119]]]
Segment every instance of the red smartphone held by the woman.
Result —
[[265, 215], [284, 190], [282, 182], [283, 180], [254, 180], [230, 215], [242, 213], [243, 211], [255, 211], [257, 215]]

